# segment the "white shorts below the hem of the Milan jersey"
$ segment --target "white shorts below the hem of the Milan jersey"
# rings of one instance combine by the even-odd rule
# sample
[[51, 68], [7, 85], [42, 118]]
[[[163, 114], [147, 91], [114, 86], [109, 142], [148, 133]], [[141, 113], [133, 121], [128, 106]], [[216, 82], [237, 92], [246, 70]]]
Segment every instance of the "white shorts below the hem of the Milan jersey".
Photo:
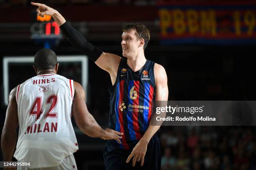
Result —
[[56, 167], [40, 167], [40, 168], [28, 168], [28, 167], [17, 167], [17, 170], [77, 170], [77, 164], [74, 159], [74, 155], [65, 157], [61, 164]]

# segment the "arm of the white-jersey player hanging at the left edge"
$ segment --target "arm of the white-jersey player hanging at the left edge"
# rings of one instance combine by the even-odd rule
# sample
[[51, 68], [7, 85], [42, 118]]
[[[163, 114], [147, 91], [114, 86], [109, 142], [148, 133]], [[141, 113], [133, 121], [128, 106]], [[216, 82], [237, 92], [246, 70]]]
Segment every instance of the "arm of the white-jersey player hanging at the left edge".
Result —
[[12, 161], [13, 151], [17, 141], [16, 129], [18, 127], [18, 106], [15, 99], [16, 88], [10, 92], [9, 104], [5, 115], [5, 124], [2, 131], [1, 147], [3, 160]]

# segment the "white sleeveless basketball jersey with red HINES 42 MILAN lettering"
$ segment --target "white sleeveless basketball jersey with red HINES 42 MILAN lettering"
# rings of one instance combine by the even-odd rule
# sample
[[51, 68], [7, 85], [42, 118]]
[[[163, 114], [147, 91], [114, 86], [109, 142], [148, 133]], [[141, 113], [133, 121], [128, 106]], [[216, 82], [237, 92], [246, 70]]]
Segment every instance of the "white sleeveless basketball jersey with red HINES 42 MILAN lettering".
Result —
[[30, 168], [53, 167], [78, 150], [73, 97], [73, 80], [58, 74], [34, 76], [18, 85], [18, 161], [30, 162]]

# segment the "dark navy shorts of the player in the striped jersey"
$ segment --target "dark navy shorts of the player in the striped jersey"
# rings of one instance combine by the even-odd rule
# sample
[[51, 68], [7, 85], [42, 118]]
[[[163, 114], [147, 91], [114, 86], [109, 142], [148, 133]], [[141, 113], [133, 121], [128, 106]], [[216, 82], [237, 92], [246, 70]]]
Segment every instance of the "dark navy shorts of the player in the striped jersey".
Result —
[[104, 162], [106, 170], [160, 170], [161, 169], [161, 148], [158, 134], [154, 134], [148, 143], [147, 152], [144, 157], [144, 165], [141, 166], [141, 161], [136, 162], [135, 167], [132, 166], [133, 158], [129, 163], [126, 163], [128, 156], [133, 148], [129, 150], [112, 150], [104, 148]]

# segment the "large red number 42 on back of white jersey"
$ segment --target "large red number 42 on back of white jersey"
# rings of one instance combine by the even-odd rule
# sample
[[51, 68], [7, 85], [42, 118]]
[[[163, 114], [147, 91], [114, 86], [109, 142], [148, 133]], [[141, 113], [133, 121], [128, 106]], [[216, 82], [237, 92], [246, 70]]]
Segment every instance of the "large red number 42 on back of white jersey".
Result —
[[[46, 112], [44, 119], [46, 117], [57, 117], [57, 113], [51, 113], [51, 111], [56, 107], [57, 103], [58, 103], [58, 96], [56, 94], [52, 94], [46, 99], [46, 104], [51, 104], [51, 107], [48, 110], [48, 112]], [[29, 115], [35, 115], [37, 120], [37, 119], [40, 119], [40, 116], [42, 113], [43, 113], [42, 97], [36, 97], [29, 111]]]

